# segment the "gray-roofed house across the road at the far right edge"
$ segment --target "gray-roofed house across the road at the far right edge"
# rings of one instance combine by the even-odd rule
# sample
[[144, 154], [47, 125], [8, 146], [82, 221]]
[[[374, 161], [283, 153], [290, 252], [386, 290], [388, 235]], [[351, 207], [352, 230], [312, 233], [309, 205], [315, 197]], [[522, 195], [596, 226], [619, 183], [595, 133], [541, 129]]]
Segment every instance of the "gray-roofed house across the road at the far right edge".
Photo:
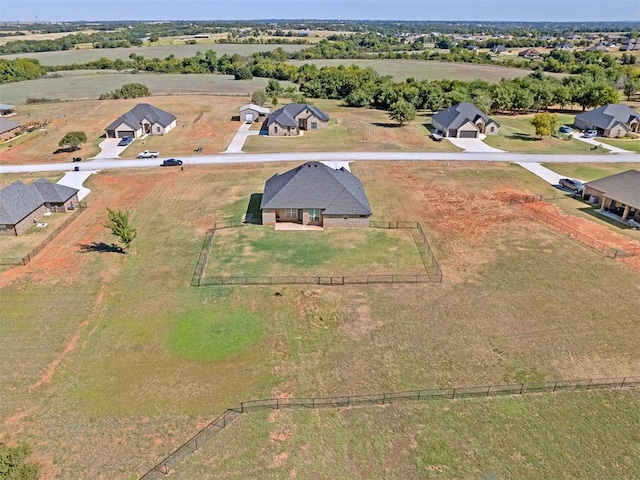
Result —
[[640, 114], [626, 105], [610, 103], [576, 115], [573, 124], [580, 130], [597, 130], [603, 137], [624, 137], [640, 132]]

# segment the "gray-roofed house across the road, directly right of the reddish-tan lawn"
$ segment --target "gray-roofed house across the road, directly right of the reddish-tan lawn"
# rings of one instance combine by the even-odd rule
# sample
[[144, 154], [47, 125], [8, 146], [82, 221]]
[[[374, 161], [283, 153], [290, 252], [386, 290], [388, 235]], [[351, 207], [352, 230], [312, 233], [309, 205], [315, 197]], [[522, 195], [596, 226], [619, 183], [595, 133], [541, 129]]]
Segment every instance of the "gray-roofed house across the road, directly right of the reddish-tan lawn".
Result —
[[481, 133], [495, 135], [500, 125], [469, 102], [462, 102], [431, 118], [436, 133], [443, 137], [478, 138]]

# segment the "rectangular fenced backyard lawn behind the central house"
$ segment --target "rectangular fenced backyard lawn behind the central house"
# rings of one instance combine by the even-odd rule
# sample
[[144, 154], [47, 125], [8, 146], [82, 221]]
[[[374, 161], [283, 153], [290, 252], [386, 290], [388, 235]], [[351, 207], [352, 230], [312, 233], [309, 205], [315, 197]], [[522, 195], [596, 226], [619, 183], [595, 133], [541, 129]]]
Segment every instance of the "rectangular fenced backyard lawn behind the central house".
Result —
[[[416, 233], [416, 238], [419, 238]], [[206, 278], [425, 275], [412, 229], [219, 229]]]

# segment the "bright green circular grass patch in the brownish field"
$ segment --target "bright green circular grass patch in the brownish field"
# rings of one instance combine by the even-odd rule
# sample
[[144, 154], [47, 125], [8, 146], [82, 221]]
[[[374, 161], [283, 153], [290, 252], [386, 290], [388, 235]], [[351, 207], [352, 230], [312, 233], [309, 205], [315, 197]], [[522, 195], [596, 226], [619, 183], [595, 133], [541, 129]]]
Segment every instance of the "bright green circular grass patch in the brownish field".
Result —
[[202, 361], [235, 357], [255, 344], [262, 324], [246, 309], [189, 311], [182, 314], [170, 335], [171, 351]]

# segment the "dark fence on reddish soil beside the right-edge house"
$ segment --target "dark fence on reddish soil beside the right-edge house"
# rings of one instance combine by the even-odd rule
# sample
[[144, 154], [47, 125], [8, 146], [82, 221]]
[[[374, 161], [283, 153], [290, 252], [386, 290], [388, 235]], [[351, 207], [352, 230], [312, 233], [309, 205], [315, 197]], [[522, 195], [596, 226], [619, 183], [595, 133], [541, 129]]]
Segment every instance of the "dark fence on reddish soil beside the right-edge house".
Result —
[[554, 230], [566, 235], [568, 237], [574, 238], [578, 240], [580, 243], [587, 245], [588, 247], [593, 248], [594, 250], [602, 253], [606, 257], [609, 258], [618, 258], [618, 257], [635, 257], [636, 255], [640, 255], [640, 248], [618, 248], [612, 247], [596, 238], [590, 237], [589, 235], [585, 235], [584, 233], [576, 230], [575, 228], [567, 225], [566, 223], [561, 222], [557, 218], [547, 215], [546, 213], [539, 212], [535, 208], [527, 205], [528, 203], [535, 203], [545, 201], [542, 196], [536, 195], [531, 197], [514, 197], [510, 200], [509, 205], [514, 207], [516, 210], [520, 211], [522, 214], [528, 216], [529, 218], [533, 218], [535, 220], [541, 221], [547, 225], [549, 225]]

